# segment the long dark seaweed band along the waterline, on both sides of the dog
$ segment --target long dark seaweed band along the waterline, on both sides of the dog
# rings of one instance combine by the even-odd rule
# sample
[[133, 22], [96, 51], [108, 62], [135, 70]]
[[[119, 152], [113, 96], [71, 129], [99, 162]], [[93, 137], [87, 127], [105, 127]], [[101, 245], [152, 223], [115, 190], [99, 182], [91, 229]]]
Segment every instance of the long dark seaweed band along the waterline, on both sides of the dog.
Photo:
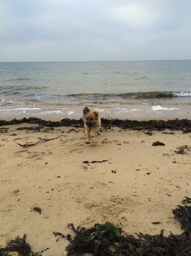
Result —
[[[60, 127], [60, 126], [73, 126], [73, 127], [84, 127], [83, 119], [75, 120], [64, 118], [60, 121], [45, 121], [39, 118], [30, 117], [22, 118], [20, 120], [13, 119], [11, 121], [0, 120], [0, 126], [4, 125], [16, 125], [21, 123], [38, 124], [39, 126], [46, 127]], [[181, 130], [183, 133], [191, 132], [191, 120], [188, 119], [175, 119], [175, 120], [149, 120], [149, 121], [136, 121], [136, 120], [119, 120], [119, 119], [105, 119], [102, 118], [102, 127], [105, 129], [111, 129], [111, 127], [117, 126], [121, 129], [132, 129], [132, 130], [158, 130], [162, 131], [165, 129], [169, 130]], [[38, 127], [40, 130], [40, 127]]]

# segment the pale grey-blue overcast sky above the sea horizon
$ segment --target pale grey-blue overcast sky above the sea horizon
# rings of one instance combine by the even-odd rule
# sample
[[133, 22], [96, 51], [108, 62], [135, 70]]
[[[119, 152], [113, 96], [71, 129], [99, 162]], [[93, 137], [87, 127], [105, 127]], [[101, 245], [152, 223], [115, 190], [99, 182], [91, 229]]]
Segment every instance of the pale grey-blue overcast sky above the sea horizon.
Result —
[[191, 59], [191, 0], [0, 0], [0, 62]]

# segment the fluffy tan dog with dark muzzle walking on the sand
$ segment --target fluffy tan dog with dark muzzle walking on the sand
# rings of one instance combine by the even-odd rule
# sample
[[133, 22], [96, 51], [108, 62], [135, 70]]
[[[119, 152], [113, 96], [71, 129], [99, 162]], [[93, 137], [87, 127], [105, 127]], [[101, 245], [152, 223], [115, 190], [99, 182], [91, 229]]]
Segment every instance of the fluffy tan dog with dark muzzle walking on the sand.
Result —
[[101, 118], [99, 112], [94, 109], [84, 107], [83, 120], [86, 132], [86, 143], [90, 143], [90, 137], [94, 137], [95, 133], [100, 135]]

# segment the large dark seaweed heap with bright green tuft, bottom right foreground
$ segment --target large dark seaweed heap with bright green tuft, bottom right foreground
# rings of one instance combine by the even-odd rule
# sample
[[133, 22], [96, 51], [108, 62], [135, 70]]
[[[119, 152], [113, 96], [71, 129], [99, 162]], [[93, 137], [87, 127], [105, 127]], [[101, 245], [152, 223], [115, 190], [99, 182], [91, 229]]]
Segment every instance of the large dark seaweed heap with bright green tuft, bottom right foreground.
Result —
[[173, 210], [175, 219], [179, 220], [185, 231], [180, 235], [170, 233], [164, 237], [159, 235], [144, 235], [138, 238], [133, 235], [121, 235], [122, 230], [110, 222], [95, 224], [92, 228], [74, 228], [68, 226], [75, 233], [66, 247], [67, 256], [80, 256], [92, 253], [94, 256], [191, 256], [191, 198], [183, 200], [184, 206]]

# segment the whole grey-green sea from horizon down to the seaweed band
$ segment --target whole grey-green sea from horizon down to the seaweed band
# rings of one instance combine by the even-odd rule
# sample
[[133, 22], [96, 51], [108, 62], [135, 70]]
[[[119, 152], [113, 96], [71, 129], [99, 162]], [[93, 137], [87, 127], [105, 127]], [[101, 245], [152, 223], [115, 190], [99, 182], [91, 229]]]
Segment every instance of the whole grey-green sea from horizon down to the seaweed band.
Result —
[[191, 60], [0, 62], [0, 118], [191, 117]]

